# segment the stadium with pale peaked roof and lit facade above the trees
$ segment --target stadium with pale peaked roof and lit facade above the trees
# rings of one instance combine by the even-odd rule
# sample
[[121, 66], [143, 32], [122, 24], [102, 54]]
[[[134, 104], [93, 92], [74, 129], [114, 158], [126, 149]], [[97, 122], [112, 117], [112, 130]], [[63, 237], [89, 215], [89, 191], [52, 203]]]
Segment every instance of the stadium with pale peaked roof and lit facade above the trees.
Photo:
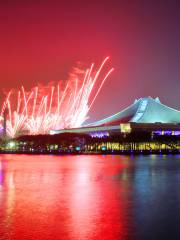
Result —
[[81, 128], [51, 130], [50, 134], [88, 133], [91, 136], [101, 137], [139, 130], [180, 135], [180, 111], [162, 104], [159, 98], [140, 98], [110, 117]]

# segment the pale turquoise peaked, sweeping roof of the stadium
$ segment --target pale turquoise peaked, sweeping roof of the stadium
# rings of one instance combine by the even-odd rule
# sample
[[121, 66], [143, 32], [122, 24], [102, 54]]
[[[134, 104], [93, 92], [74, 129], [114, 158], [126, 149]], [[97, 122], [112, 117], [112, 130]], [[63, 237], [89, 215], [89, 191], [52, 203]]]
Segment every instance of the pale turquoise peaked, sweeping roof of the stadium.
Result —
[[145, 97], [108, 118], [87, 126], [112, 126], [120, 123], [180, 123], [180, 111], [162, 104], [159, 98]]

